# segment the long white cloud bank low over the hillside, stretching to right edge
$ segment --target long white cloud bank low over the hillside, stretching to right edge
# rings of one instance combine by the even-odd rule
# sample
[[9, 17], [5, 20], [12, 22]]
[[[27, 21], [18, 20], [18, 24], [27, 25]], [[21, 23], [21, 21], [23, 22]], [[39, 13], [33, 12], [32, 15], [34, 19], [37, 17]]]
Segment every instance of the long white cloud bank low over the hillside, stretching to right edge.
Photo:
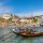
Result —
[[43, 15], [43, 11], [33, 11], [33, 12], [29, 12], [29, 13], [18, 13], [16, 15], [18, 15], [20, 17], [39, 16], [39, 15]]

